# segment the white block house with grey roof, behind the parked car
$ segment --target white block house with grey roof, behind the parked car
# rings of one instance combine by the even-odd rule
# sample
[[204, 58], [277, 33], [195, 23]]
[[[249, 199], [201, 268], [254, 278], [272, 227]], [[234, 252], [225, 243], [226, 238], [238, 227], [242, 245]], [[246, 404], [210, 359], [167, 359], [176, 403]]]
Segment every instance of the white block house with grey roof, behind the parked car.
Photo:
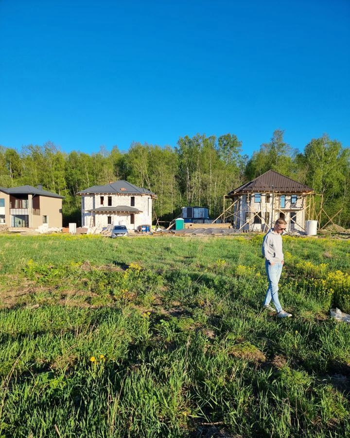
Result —
[[139, 225], [152, 225], [152, 201], [157, 196], [127, 181], [94, 185], [77, 193], [82, 197], [82, 226], [106, 227], [126, 225], [135, 230]]

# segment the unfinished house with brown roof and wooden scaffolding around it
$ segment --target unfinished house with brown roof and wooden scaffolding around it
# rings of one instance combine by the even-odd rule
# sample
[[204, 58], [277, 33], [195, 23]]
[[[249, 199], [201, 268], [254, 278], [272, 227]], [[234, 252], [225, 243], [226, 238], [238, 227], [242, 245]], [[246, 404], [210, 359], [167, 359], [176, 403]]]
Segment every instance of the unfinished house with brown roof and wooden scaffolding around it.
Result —
[[314, 190], [269, 170], [225, 196], [223, 220], [242, 231], [267, 231], [282, 218], [287, 231], [305, 231]]

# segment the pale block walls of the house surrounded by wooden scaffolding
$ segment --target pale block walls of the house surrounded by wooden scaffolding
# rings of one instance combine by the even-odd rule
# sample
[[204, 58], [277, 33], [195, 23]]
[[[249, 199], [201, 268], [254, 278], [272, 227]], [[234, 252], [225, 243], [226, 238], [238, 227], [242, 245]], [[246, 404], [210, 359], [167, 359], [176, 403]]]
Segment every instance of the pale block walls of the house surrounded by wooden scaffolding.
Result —
[[[246, 202], [246, 195], [243, 195], [240, 200], [234, 206], [234, 227], [239, 229], [242, 227], [242, 230], [250, 230], [250, 231], [265, 231], [271, 227], [271, 220], [274, 223], [277, 219], [280, 218], [280, 213], [284, 213], [285, 221], [287, 222], [286, 229], [287, 231], [292, 230], [291, 226], [291, 214], [296, 213], [294, 230], [296, 231], [304, 231], [305, 229], [305, 212], [303, 210], [304, 198], [302, 195], [297, 195], [297, 202], [291, 203], [291, 195], [285, 195], [285, 207], [281, 208], [280, 206], [280, 195], [274, 195], [274, 217], [271, 218], [272, 212], [272, 193], [270, 194], [270, 200], [266, 201], [266, 194], [261, 193], [261, 201], [255, 202], [254, 194], [248, 195], [248, 202]], [[254, 223], [254, 215], [257, 212], [261, 212], [261, 223]], [[267, 215], [269, 214], [268, 221], [266, 221]], [[250, 223], [245, 224], [246, 216], [250, 218]], [[244, 225], [245, 224], [245, 225]], [[243, 226], [244, 225], [244, 226]]]

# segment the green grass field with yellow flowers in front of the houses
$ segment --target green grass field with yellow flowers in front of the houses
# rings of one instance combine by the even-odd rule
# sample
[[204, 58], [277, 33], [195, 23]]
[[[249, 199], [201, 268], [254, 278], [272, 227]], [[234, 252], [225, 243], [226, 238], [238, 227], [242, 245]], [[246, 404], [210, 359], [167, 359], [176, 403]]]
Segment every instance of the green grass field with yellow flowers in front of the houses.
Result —
[[0, 236], [0, 437], [349, 437], [350, 242]]

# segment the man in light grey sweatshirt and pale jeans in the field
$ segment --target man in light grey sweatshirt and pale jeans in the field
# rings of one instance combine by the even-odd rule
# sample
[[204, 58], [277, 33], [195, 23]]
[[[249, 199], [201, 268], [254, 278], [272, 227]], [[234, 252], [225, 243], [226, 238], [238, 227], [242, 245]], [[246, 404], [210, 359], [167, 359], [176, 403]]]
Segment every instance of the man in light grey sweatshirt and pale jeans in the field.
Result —
[[281, 234], [286, 229], [287, 222], [284, 219], [277, 219], [274, 228], [272, 228], [263, 238], [262, 255], [265, 257], [265, 269], [269, 287], [267, 289], [263, 307], [268, 310], [274, 310], [270, 306], [272, 302], [276, 307], [278, 318], [288, 318], [291, 313], [285, 312], [278, 297], [280, 274], [284, 264], [282, 252], [282, 237]]

